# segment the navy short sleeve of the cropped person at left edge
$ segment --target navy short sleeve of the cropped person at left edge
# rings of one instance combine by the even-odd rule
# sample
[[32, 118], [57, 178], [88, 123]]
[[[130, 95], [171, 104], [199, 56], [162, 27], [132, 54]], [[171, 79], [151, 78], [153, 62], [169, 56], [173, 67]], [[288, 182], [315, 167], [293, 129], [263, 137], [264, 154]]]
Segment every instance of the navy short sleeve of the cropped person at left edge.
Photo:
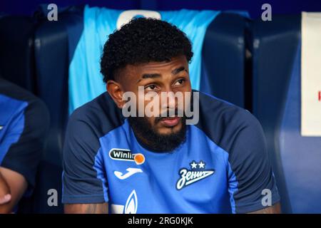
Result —
[[41, 100], [23, 102], [11, 117], [1, 142], [2, 148], [7, 148], [0, 161], [1, 167], [23, 175], [29, 184], [29, 192], [35, 186], [49, 122], [49, 112]]

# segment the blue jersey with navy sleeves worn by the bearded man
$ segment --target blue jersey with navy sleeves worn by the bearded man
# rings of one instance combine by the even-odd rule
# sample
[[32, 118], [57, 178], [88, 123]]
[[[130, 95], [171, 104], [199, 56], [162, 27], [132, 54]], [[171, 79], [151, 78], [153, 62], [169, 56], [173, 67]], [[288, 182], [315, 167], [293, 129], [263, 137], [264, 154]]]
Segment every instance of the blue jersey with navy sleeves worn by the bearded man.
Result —
[[152, 152], [108, 93], [75, 110], [63, 149], [63, 203], [111, 213], [245, 213], [280, 200], [263, 130], [247, 110], [200, 93], [200, 120]]

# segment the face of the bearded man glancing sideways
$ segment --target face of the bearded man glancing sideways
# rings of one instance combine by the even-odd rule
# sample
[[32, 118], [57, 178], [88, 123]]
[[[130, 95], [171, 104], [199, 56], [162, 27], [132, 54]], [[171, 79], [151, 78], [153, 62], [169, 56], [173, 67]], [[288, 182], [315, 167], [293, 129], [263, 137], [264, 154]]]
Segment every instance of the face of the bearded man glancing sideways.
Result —
[[[185, 56], [178, 56], [167, 62], [128, 65], [118, 71], [116, 81], [108, 81], [107, 90], [118, 105], [118, 108], [123, 108], [123, 105], [126, 103], [126, 101], [122, 100], [123, 93], [128, 91], [135, 93], [137, 98], [136, 107], [138, 109], [138, 102], [143, 99], [138, 96], [139, 86], [143, 86], [145, 94], [148, 92], [157, 93], [158, 98], [161, 98], [162, 92], [191, 92], [188, 61]], [[146, 107], [151, 100], [141, 100], [141, 102], [143, 102]], [[162, 105], [161, 100], [159, 100], [159, 105], [161, 113], [167, 113], [170, 108], [178, 109], [177, 99], [175, 99], [174, 104], [172, 103], [168, 106]], [[182, 137], [182, 131], [185, 136], [185, 119], [177, 115], [165, 118], [145, 116], [143, 118], [129, 118], [129, 120], [136, 136], [149, 145], [151, 145], [152, 142], [148, 141], [154, 140], [155, 142], [155, 140], [158, 141], [161, 140], [161, 138], [175, 141], [175, 137], [179, 135], [180, 138]], [[153, 138], [149, 138], [151, 134]], [[162, 147], [161, 145], [158, 146]]]

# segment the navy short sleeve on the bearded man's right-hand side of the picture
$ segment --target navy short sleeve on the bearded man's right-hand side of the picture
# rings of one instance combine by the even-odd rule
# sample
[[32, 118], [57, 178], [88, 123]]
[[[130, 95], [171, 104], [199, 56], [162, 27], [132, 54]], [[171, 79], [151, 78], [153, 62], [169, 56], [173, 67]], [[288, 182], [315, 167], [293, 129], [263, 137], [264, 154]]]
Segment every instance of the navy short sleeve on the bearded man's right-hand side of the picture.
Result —
[[263, 129], [250, 113], [246, 112], [244, 117], [243, 125], [236, 130], [228, 159], [230, 203], [234, 213], [268, 207], [266, 192], [271, 193], [271, 204], [280, 200]]

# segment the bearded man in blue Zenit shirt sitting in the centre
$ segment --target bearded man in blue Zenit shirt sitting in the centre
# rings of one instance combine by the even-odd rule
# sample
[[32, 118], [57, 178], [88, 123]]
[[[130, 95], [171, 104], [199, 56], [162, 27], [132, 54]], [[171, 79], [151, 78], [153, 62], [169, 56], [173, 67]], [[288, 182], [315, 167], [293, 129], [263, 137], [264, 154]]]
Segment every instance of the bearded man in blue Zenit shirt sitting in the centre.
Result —
[[75, 110], [68, 123], [66, 213], [280, 212], [263, 130], [247, 110], [199, 93], [184, 103], [199, 103], [195, 125], [178, 115], [178, 98], [153, 107], [162, 115], [123, 116], [128, 93], [139, 113], [141, 88], [154, 100], [190, 93], [192, 56], [185, 34], [165, 21], [133, 19], [109, 36], [101, 58], [108, 93]]

